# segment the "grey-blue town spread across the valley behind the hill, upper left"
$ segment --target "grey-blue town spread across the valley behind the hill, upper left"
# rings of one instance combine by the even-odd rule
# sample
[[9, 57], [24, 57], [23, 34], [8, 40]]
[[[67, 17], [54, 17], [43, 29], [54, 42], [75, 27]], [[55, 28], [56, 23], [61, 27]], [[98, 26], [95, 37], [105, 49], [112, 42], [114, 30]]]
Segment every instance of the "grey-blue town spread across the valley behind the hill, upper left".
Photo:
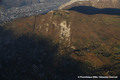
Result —
[[0, 11], [0, 23], [11, 21], [19, 17], [28, 17], [37, 14], [45, 14], [51, 10], [56, 10], [63, 2], [37, 3], [30, 6], [12, 7]]

